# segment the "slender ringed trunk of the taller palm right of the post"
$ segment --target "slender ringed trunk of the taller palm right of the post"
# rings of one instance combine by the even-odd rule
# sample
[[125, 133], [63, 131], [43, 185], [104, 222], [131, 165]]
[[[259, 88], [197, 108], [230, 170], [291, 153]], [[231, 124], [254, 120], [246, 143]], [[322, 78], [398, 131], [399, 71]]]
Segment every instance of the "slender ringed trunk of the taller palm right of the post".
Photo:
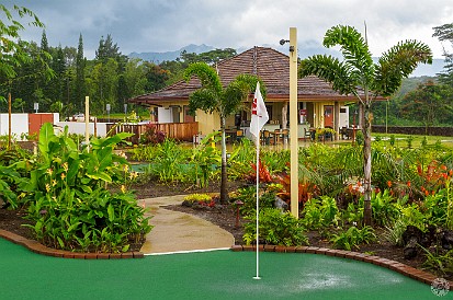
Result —
[[371, 209], [371, 112], [370, 102], [366, 102], [363, 111], [363, 221], [365, 226], [372, 226]]

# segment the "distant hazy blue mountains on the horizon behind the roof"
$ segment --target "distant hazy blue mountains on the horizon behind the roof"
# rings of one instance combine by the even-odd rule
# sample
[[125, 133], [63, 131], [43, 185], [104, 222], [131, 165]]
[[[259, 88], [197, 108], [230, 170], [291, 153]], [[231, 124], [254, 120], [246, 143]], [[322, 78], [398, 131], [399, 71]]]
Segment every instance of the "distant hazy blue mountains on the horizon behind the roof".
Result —
[[[271, 47], [274, 48], [275, 50], [279, 50], [281, 53], [285, 53], [287, 51], [287, 46], [275, 46], [275, 45], [264, 45], [265, 47]], [[173, 51], [165, 51], [165, 53], [132, 53], [128, 55], [129, 58], [140, 58], [145, 61], [151, 61], [155, 64], [160, 64], [162, 61], [170, 61], [170, 60], [175, 60], [177, 58], [180, 57], [181, 53], [183, 50], [185, 50], [186, 53], [194, 53], [194, 54], [202, 54], [202, 53], [207, 53], [211, 50], [216, 49], [213, 46], [207, 46], [205, 44], [202, 45], [194, 45], [194, 44], [190, 44], [185, 47], [180, 48], [179, 50], [173, 50]], [[245, 50], [247, 50], [247, 48], [239, 48], [236, 49], [237, 53], [242, 53]], [[324, 54], [326, 53], [326, 48], [320, 48], [315, 44], [308, 43], [305, 45], [299, 45], [298, 48], [298, 54], [299, 57], [308, 57], [310, 55], [315, 55], [315, 54]], [[327, 54], [331, 54], [331, 55], [336, 55], [335, 53], [327, 53]], [[338, 54], [337, 54], [338, 56]], [[375, 61], [377, 61], [377, 58], [374, 59]], [[420, 65], [410, 77], [435, 77], [438, 73], [443, 71], [443, 67], [444, 67], [444, 60], [441, 58], [438, 59], [433, 59], [432, 60], [432, 65]]]

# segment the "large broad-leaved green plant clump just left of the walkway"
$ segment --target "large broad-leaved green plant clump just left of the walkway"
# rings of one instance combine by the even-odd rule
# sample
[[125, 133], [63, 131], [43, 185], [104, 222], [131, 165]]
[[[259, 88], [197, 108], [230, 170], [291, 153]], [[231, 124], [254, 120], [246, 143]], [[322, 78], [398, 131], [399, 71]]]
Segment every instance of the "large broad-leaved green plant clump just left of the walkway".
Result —
[[[114, 147], [129, 134], [91, 139], [82, 152], [52, 124], [39, 130], [39, 155], [31, 171], [27, 219], [44, 244], [64, 250], [127, 251], [151, 230], [145, 209], [125, 187], [128, 163]], [[106, 189], [121, 185], [121, 193]]]

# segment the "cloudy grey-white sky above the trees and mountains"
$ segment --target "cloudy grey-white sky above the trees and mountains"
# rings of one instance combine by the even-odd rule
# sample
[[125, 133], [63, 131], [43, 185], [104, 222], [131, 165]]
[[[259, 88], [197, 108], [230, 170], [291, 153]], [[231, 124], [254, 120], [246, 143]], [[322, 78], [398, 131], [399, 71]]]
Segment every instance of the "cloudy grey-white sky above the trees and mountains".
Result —
[[[333, 25], [364, 33], [373, 56], [403, 39], [428, 44], [434, 57], [443, 48], [433, 26], [453, 22], [452, 0], [3, 0], [35, 12], [46, 25], [50, 46], [77, 47], [93, 58], [101, 36], [112, 35], [123, 54], [178, 50], [189, 44], [216, 48], [272, 46], [297, 27], [301, 53], [325, 53], [321, 41]], [[41, 42], [42, 30], [26, 28], [23, 39]], [[303, 49], [303, 50], [302, 50]]]

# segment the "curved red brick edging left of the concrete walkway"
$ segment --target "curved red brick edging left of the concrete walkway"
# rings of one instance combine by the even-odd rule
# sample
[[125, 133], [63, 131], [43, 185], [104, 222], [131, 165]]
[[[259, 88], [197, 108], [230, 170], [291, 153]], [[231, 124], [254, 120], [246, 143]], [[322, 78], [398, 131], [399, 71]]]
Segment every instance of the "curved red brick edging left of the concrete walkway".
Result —
[[22, 245], [30, 251], [54, 257], [79, 258], [79, 259], [117, 259], [117, 258], [143, 258], [145, 255], [141, 252], [124, 252], [124, 253], [81, 253], [70, 252], [47, 247], [37, 241], [29, 240], [15, 233], [0, 229], [0, 238], [3, 238], [14, 244]]

